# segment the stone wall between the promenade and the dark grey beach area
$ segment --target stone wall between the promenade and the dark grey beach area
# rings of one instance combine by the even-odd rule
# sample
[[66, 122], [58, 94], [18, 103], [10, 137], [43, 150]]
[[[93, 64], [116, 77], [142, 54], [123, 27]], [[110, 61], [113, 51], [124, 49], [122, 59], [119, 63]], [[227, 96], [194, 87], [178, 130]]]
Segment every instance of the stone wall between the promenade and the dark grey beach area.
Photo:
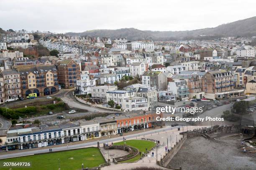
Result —
[[174, 147], [169, 151], [169, 153], [164, 155], [164, 158], [160, 160], [159, 165], [167, 168], [168, 163], [172, 160], [174, 155], [179, 151], [179, 149], [182, 147], [183, 143], [186, 140], [187, 134], [184, 134], [183, 137], [179, 140], [179, 142], [176, 143], [176, 145], [174, 145]]

